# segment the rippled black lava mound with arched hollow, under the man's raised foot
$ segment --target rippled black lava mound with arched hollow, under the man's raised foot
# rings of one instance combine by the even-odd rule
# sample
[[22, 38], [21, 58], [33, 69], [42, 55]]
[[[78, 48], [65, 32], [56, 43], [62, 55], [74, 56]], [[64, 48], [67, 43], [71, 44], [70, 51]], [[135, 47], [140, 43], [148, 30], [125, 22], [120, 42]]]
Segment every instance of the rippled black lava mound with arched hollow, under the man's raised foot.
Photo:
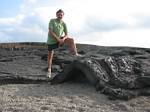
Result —
[[150, 84], [149, 79], [139, 61], [134, 58], [108, 56], [103, 59], [78, 58], [66, 66], [51, 82], [56, 84], [70, 80], [80, 82], [88, 80], [96, 90], [109, 95], [109, 98], [128, 100], [138, 95], [150, 95], [150, 90], [145, 89]]

